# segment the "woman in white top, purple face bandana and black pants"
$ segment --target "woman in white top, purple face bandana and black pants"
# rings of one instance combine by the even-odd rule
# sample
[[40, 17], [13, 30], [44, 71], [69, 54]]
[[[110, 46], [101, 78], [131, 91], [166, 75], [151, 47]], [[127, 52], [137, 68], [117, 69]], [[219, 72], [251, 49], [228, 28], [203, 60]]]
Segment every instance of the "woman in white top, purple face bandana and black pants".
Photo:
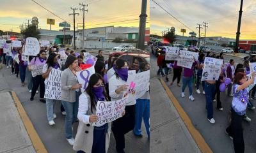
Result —
[[[128, 64], [122, 59], [116, 60], [116, 73], [109, 80], [109, 96], [111, 101], [122, 99], [127, 91]], [[124, 135], [134, 128], [136, 101], [129, 101], [125, 106], [125, 115], [113, 121], [112, 131], [116, 140], [116, 151], [124, 152]]]

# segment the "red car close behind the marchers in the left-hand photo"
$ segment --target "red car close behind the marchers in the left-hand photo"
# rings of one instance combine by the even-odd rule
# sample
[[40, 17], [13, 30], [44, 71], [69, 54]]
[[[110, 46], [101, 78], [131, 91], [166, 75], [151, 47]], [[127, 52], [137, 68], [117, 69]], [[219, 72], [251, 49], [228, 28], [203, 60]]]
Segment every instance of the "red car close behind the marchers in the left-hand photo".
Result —
[[[149, 54], [123, 54], [118, 57], [118, 59], [123, 59], [128, 62], [129, 70], [136, 70], [136, 73], [140, 69], [140, 63], [144, 62], [150, 64]], [[135, 63], [137, 59], [138, 63]]]

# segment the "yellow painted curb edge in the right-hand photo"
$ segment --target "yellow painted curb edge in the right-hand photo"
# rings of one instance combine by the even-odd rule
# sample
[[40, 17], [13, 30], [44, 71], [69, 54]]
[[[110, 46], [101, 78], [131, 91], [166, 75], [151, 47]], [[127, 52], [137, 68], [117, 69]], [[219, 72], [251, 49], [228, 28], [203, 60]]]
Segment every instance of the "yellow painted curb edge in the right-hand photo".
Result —
[[179, 101], [175, 98], [172, 91], [170, 91], [169, 87], [166, 85], [164, 80], [162, 78], [159, 79], [161, 84], [164, 87], [164, 90], [166, 91], [166, 94], [172, 101], [173, 105], [175, 106], [177, 112], [179, 113], [181, 119], [183, 120], [184, 124], [188, 128], [189, 133], [195, 140], [198, 148], [201, 150], [201, 152], [207, 152], [212, 153], [211, 148], [209, 145], [205, 142], [203, 136], [196, 130], [196, 128], [193, 126], [191, 120], [189, 119], [187, 113], [183, 110], [182, 106], [180, 106]]

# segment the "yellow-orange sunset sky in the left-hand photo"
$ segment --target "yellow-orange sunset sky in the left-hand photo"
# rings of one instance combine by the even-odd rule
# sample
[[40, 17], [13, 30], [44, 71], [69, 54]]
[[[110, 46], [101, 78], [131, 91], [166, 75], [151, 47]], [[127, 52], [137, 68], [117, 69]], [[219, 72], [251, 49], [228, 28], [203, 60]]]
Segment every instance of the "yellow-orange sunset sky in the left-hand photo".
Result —
[[[35, 0], [48, 10], [52, 11], [59, 17], [73, 24], [73, 13], [70, 7], [76, 7], [79, 16], [76, 16], [77, 23], [83, 23], [83, 11], [80, 11], [79, 3], [88, 4], [88, 12], [85, 15], [85, 28], [102, 27], [108, 25], [115, 26], [139, 26], [139, 16], [141, 11], [141, 1], [138, 0]], [[85, 9], [85, 10], [86, 10]], [[149, 20], [149, 1], [147, 6], [147, 14]], [[20, 24], [28, 23], [27, 19], [38, 17], [39, 27], [42, 29], [50, 29], [50, 25], [46, 24], [46, 18], [55, 19], [55, 25], [52, 25], [52, 30], [61, 29], [58, 27], [60, 18], [52, 15], [44, 10], [41, 6], [31, 0], [8, 0], [0, 5], [0, 29], [3, 31], [20, 32]], [[129, 21], [125, 21], [129, 20]], [[30, 21], [31, 22], [31, 21]], [[111, 23], [109, 23], [111, 22]], [[31, 24], [31, 23], [30, 23]], [[82, 25], [82, 24], [80, 24]], [[149, 21], [147, 23], [149, 27]], [[79, 27], [82, 29], [83, 27]], [[71, 25], [71, 30], [73, 25]]]

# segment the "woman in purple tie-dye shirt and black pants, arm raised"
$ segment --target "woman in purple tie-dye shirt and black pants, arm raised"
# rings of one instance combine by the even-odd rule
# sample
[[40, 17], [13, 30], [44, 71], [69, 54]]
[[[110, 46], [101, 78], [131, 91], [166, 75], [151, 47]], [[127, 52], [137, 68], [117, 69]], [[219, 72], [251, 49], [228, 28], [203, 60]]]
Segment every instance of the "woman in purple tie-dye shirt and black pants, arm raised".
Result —
[[244, 137], [242, 120], [246, 112], [246, 106], [249, 101], [249, 94], [246, 90], [249, 85], [254, 83], [255, 73], [252, 72], [252, 78], [247, 80], [245, 73], [237, 73], [234, 77], [233, 100], [231, 108], [231, 124], [226, 129], [226, 133], [233, 139], [235, 152], [244, 152]]

